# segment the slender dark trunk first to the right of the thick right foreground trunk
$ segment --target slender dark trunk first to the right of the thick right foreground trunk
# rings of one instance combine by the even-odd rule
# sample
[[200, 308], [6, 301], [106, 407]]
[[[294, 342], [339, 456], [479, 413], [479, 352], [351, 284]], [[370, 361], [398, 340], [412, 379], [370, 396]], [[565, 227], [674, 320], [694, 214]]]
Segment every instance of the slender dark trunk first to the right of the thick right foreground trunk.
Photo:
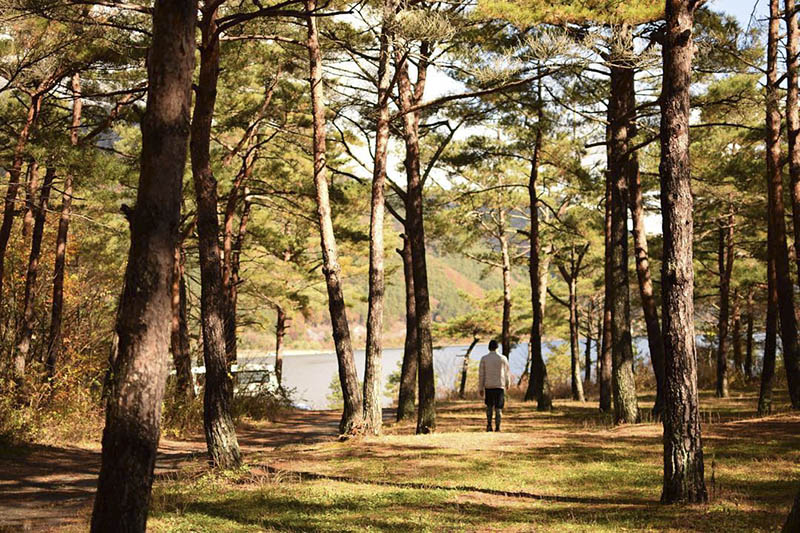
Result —
[[[733, 209], [733, 206], [730, 206]], [[733, 213], [719, 221], [719, 322], [717, 331], [717, 398], [728, 397], [728, 320], [733, 273]], [[727, 226], [727, 227], [726, 227]]]

